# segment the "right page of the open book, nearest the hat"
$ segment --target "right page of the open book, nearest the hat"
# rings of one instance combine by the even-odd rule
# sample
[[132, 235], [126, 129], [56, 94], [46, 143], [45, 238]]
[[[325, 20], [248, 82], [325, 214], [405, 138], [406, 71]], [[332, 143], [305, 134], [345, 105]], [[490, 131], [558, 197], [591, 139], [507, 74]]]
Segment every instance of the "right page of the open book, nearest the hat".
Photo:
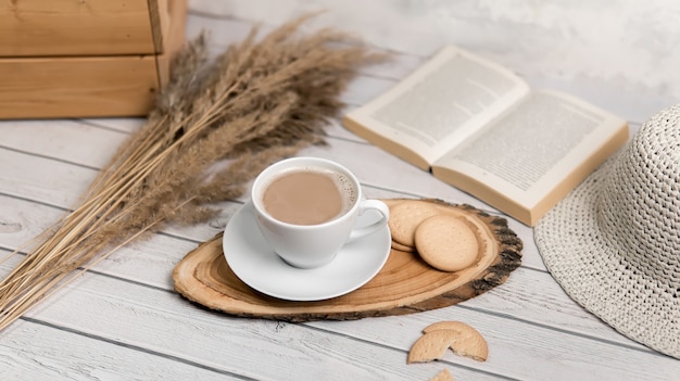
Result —
[[530, 208], [625, 125], [576, 98], [534, 92], [437, 166], [475, 178]]

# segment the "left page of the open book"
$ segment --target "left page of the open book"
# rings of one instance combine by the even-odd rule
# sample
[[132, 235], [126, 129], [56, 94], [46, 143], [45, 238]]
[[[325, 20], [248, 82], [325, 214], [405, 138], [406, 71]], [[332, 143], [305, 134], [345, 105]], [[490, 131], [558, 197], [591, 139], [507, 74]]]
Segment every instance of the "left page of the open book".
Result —
[[432, 163], [528, 92], [511, 71], [446, 47], [348, 118]]

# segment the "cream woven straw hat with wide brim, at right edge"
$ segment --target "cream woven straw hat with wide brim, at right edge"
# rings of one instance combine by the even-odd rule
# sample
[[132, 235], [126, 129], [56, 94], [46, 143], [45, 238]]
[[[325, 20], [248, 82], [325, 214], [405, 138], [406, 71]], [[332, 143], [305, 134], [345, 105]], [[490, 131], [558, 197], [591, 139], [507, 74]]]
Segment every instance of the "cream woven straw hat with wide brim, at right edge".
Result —
[[680, 358], [680, 104], [654, 115], [534, 228], [585, 309]]

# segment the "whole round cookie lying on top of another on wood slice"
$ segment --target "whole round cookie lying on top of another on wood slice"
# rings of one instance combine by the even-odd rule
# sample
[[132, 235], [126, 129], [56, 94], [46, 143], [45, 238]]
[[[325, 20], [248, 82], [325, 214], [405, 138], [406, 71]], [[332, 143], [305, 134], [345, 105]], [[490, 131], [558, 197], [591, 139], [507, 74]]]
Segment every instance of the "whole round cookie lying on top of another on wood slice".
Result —
[[469, 267], [479, 252], [473, 227], [451, 215], [436, 215], [420, 223], [415, 232], [415, 245], [423, 261], [442, 271]]

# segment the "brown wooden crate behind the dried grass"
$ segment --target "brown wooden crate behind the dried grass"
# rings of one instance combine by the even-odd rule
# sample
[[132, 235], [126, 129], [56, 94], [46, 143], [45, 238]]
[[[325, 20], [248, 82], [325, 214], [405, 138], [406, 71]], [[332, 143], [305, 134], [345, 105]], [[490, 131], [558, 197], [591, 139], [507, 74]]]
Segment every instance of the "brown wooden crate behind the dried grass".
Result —
[[[146, 29], [148, 39], [143, 45], [147, 45], [148, 49], [144, 49], [144, 52], [140, 50], [130, 54], [121, 51], [121, 46], [111, 42], [98, 45], [106, 49], [105, 51], [80, 51], [83, 54], [70, 55], [60, 51], [63, 46], [52, 50], [45, 46], [37, 46], [33, 48], [39, 50], [40, 54], [37, 51], [29, 51], [33, 48], [27, 47], [24, 51], [24, 53], [28, 52], [27, 56], [21, 54], [3, 56], [3, 47], [10, 45], [10, 38], [3, 30], [10, 26], [2, 24], [2, 17], [7, 16], [7, 13], [2, 12], [5, 12], [8, 7], [20, 7], [18, 4], [22, 4], [22, 9], [38, 5], [49, 9], [48, 1], [41, 0], [9, 3], [10, 5], [0, 2], [0, 119], [144, 116], [152, 109], [160, 88], [167, 82], [172, 55], [185, 41], [187, 14], [185, 0], [90, 0], [87, 2], [50, 0], [49, 3], [59, 8], [60, 13], [63, 13], [61, 11], [64, 9], [70, 9], [68, 7], [80, 7], [74, 5], [75, 3], [92, 5], [98, 12], [111, 11], [109, 16], [121, 16], [116, 23], [127, 28], [129, 27], [127, 23], [134, 18], [122, 17], [122, 15], [129, 15], [127, 13], [116, 13], [119, 10], [116, 5], [123, 4], [127, 11], [135, 11], [130, 14], [138, 16], [134, 23], [139, 24], [138, 22], [142, 20], [146, 23], [146, 27], [141, 29]], [[37, 11], [29, 14], [38, 17]], [[43, 18], [49, 20], [49, 16]], [[45, 23], [43, 18], [40, 20]], [[37, 22], [37, 18], [34, 22]], [[72, 23], [77, 22], [76, 18], [72, 20]], [[54, 26], [49, 23], [45, 25]], [[24, 26], [22, 24], [22, 27]], [[81, 26], [80, 35], [87, 36], [89, 31], [85, 28], [91, 26]], [[96, 28], [92, 30], [92, 34], [97, 33]], [[65, 40], [72, 48], [83, 48], [78, 43], [84, 40], [68, 38]], [[13, 46], [30, 45], [22, 41], [24, 40], [20, 38], [11, 43]], [[70, 52], [75, 52], [75, 50]]]

